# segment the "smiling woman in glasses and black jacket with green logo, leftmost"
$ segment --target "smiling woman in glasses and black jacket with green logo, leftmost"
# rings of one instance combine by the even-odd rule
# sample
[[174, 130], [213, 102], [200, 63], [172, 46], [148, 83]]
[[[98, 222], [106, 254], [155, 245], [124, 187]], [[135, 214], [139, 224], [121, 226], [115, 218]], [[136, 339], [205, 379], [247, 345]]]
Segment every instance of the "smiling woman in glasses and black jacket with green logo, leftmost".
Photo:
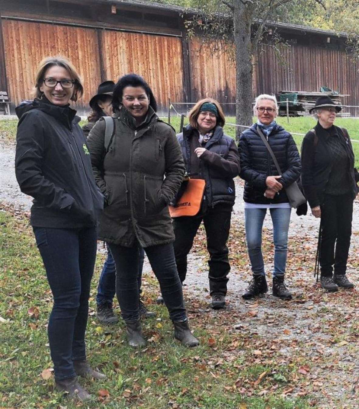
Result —
[[21, 191], [34, 198], [30, 224], [54, 297], [47, 331], [55, 388], [86, 401], [90, 394], [77, 375], [106, 377], [90, 368], [85, 351], [103, 196], [94, 181], [80, 118], [70, 108], [70, 101], [82, 94], [83, 85], [70, 61], [58, 56], [40, 62], [34, 101], [16, 108], [15, 169]]

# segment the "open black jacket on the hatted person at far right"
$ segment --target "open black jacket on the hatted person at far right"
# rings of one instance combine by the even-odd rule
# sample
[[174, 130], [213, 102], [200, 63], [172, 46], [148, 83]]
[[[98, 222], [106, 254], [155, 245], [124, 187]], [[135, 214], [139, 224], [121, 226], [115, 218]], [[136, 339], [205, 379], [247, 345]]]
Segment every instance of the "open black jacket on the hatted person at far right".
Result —
[[[358, 193], [357, 182], [359, 181], [359, 173], [354, 168], [352, 143], [350, 138], [343, 135], [341, 128], [337, 126], [335, 128], [339, 135], [339, 141], [343, 144], [348, 154], [348, 180], [350, 181], [350, 193], [354, 200]], [[309, 131], [303, 139], [301, 149], [301, 179], [305, 197], [311, 209], [323, 203], [330, 172], [335, 171], [335, 169], [332, 169], [333, 158], [327, 143], [327, 139], [330, 137], [329, 133], [319, 122], [314, 129], [318, 137], [316, 146], [314, 146], [314, 133]]]

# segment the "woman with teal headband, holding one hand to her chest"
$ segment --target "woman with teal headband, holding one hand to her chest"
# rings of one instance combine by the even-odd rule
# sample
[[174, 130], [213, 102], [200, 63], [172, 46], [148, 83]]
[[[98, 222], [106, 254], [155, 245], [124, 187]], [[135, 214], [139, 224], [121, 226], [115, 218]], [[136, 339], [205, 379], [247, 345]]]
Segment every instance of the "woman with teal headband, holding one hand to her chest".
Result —
[[[175, 258], [180, 280], [186, 278], [187, 254], [203, 220], [209, 252], [211, 307], [225, 307], [230, 270], [227, 239], [236, 198], [233, 178], [240, 172], [239, 153], [233, 139], [223, 133], [224, 114], [218, 101], [198, 101], [189, 112], [189, 125], [177, 135], [190, 178], [204, 179], [202, 206], [195, 216], [173, 219]], [[179, 196], [179, 195], [177, 195]]]

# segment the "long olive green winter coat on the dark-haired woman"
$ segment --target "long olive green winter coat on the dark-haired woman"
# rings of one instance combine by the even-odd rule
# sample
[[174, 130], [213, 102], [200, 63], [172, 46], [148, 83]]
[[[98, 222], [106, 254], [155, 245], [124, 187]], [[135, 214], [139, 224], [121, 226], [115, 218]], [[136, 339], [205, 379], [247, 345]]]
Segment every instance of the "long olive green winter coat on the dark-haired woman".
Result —
[[126, 247], [132, 247], [136, 238], [142, 247], [171, 243], [175, 236], [167, 205], [185, 172], [175, 132], [151, 107], [138, 127], [125, 108], [113, 118], [114, 136], [107, 153], [103, 119], [87, 141], [96, 183], [107, 199], [99, 239]]

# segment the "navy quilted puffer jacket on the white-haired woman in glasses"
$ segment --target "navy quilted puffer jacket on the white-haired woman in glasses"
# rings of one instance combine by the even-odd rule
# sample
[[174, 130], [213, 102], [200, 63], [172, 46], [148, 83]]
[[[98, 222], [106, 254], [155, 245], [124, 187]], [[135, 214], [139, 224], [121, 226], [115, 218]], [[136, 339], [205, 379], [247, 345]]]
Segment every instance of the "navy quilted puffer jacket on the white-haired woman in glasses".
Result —
[[238, 145], [241, 164], [240, 177], [245, 180], [243, 199], [248, 203], [288, 202], [285, 187], [296, 182], [301, 173], [301, 158], [289, 132], [276, 124], [267, 140], [282, 171], [279, 182], [283, 185], [283, 189], [273, 199], [263, 196], [267, 189], [265, 184], [267, 177], [277, 176], [278, 171], [265, 144], [260, 139], [257, 124], [254, 124], [240, 135]]

